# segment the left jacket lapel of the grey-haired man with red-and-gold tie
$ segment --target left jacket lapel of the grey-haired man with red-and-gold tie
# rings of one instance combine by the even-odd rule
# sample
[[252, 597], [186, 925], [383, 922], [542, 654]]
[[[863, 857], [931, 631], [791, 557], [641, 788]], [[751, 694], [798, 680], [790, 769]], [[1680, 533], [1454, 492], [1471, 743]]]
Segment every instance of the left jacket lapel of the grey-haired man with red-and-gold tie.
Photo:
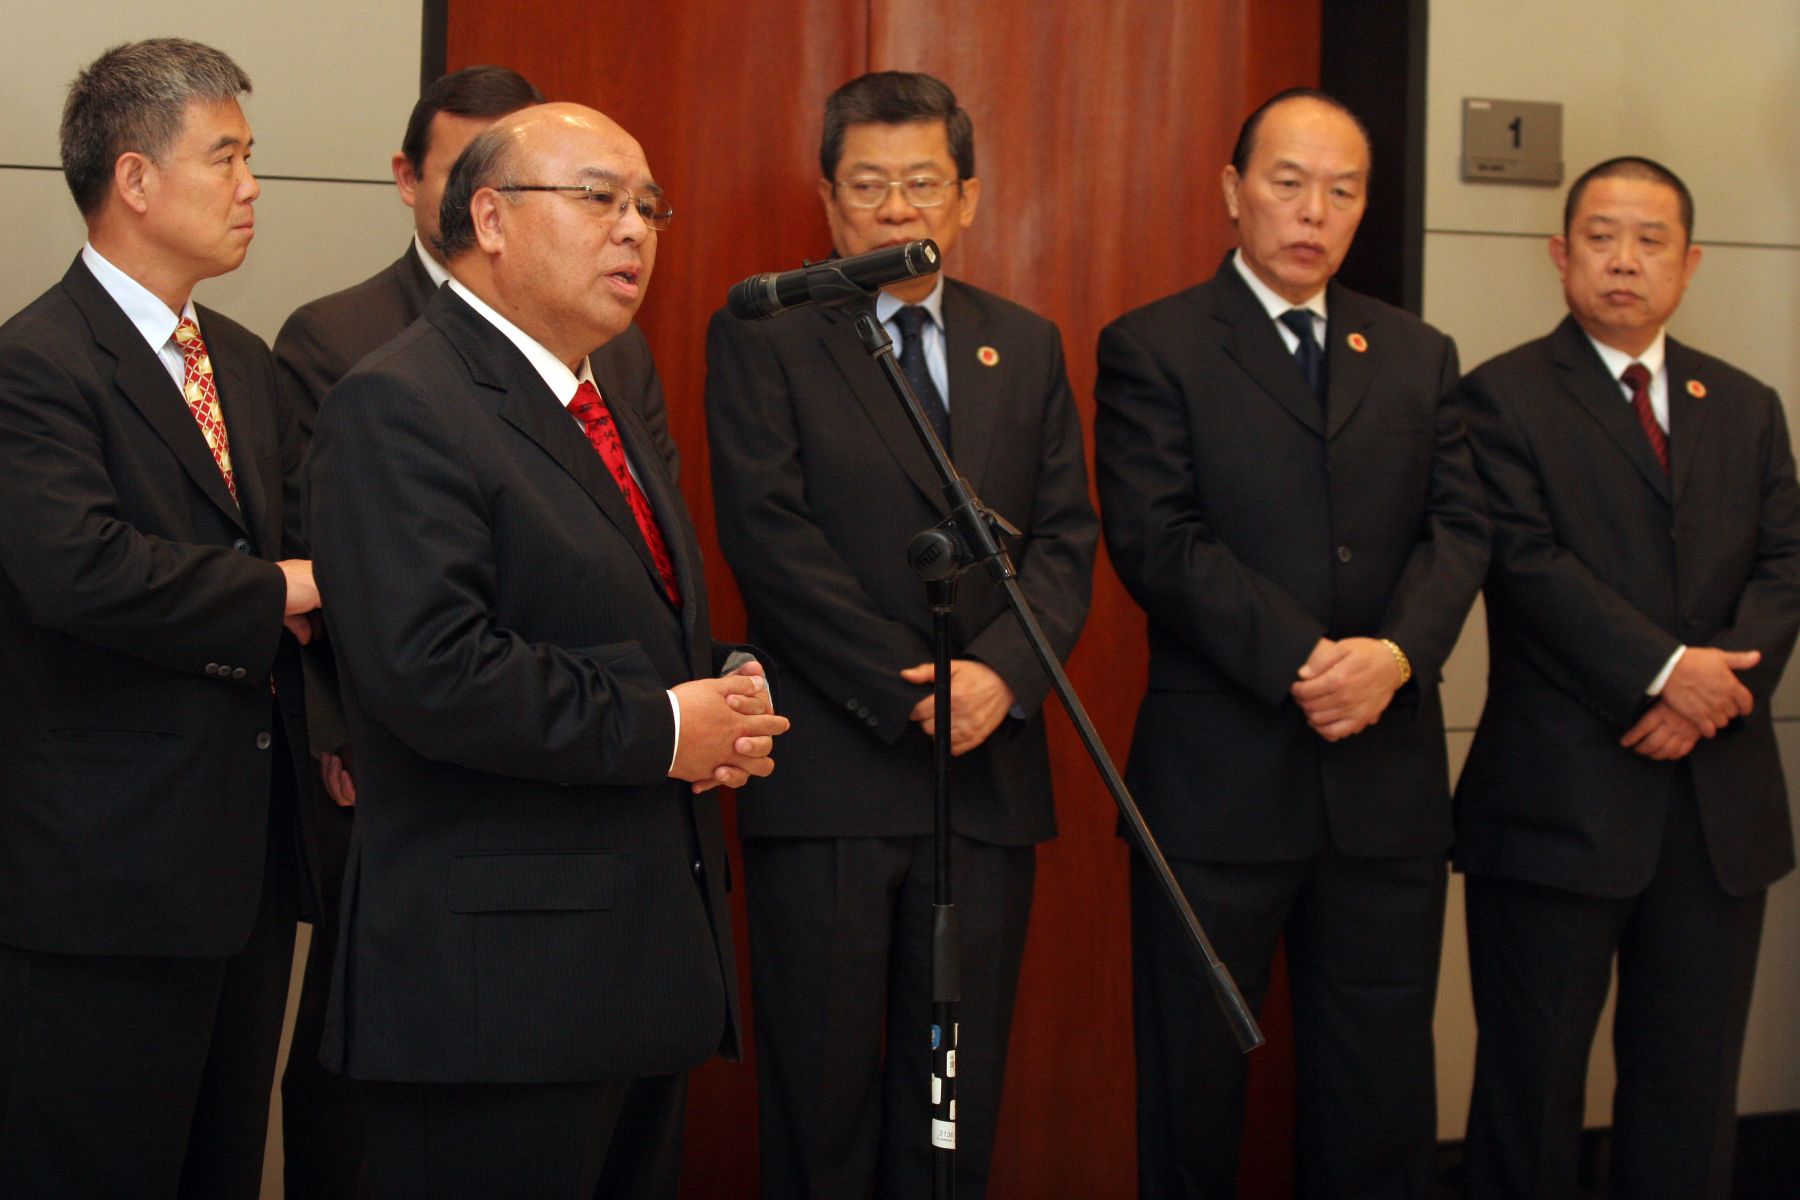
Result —
[[[175, 385], [162, 365], [162, 358], [149, 349], [144, 336], [79, 257], [63, 275], [63, 288], [94, 331], [94, 342], [117, 362], [113, 383], [117, 383], [119, 392], [142, 414], [175, 461], [187, 471], [187, 477], [194, 480], [194, 486], [248, 533], [250, 527], [245, 524], [238, 502], [230, 498], [230, 489], [225, 486], [225, 477], [220, 475], [218, 462], [212, 461], [212, 452], [207, 450], [207, 439], [194, 423], [194, 414], [187, 410], [182, 389]], [[230, 414], [225, 416], [225, 421], [229, 435]]]

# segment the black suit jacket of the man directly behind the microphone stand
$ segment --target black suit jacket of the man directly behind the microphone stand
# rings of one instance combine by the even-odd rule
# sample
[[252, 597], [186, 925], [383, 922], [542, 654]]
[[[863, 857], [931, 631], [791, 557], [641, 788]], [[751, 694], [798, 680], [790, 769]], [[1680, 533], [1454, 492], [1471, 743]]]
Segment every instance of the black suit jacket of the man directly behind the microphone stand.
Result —
[[[720, 311], [707, 331], [718, 540], [794, 720], [781, 768], [740, 799], [749, 837], [932, 828], [931, 739], [907, 720], [931, 689], [898, 671], [932, 658], [925, 585], [905, 551], [943, 520], [943, 491], [853, 317], [805, 308], [743, 322]], [[1062, 338], [954, 279], [943, 324], [956, 464], [1022, 531], [1021, 587], [1067, 657], [1087, 617], [1098, 529]], [[1055, 837], [1040, 714], [1049, 680], [979, 570], [959, 585], [952, 640], [954, 657], [994, 667], [1026, 714], [954, 759], [956, 829], [1003, 846]]]

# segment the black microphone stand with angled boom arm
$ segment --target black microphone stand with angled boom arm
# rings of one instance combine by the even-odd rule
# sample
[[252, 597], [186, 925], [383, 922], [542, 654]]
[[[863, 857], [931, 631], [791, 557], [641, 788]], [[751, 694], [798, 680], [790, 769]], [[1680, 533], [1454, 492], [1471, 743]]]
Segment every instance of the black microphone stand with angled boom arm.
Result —
[[[857, 288], [846, 279], [842, 297], [839, 297], [837, 288], [833, 288], [833, 295], [830, 299], [817, 293], [814, 299], [826, 302], [850, 299], [851, 291], [857, 297], [868, 297], [868, 291]], [[1057, 660], [1057, 651], [1051, 648], [1049, 639], [1044, 637], [1044, 630], [1039, 626], [1030, 601], [1026, 601], [1024, 592], [1019, 588], [1019, 569], [1013, 567], [1012, 558], [999, 542], [1001, 533], [1019, 536], [1019, 531], [1006, 524], [1006, 518], [988, 511], [968, 486], [968, 480], [963, 479], [956, 470], [956, 464], [950, 462], [950, 455], [945, 453], [943, 443], [938, 441], [938, 434], [931, 428], [931, 421], [918, 405], [918, 396], [913, 394], [913, 385], [907, 383], [905, 372], [900, 371], [900, 363], [895, 358], [893, 338], [887, 336], [887, 331], [882, 327], [882, 322], [875, 318], [873, 311], [862, 311], [857, 315], [857, 336], [862, 338], [862, 349], [866, 349], [869, 358], [873, 358], [882, 369], [882, 374], [887, 378], [887, 387], [893, 389], [893, 394], [905, 408], [907, 419], [913, 423], [913, 432], [918, 434], [920, 443], [925, 446], [925, 455], [931, 459], [938, 479], [943, 480], [943, 497], [950, 509], [950, 515], [943, 522], [913, 538], [913, 543], [907, 549], [907, 560], [927, 581], [927, 603], [932, 612], [932, 631], [936, 640], [936, 682], [932, 684], [932, 703], [938, 729], [932, 734], [936, 887], [932, 896], [931, 946], [931, 1144], [932, 1196], [936, 1196], [936, 1200], [952, 1200], [956, 1196], [956, 1002], [961, 999], [961, 982], [958, 979], [959, 948], [956, 945], [956, 905], [950, 892], [949, 622], [950, 613], [956, 608], [956, 579], [965, 570], [974, 570], [976, 567], [985, 569], [988, 578], [994, 579], [994, 583], [1006, 594], [1006, 604], [1012, 608], [1026, 640], [1031, 642], [1031, 651], [1037, 655], [1039, 664], [1049, 676], [1051, 687], [1057, 691], [1057, 698], [1062, 700], [1064, 711], [1075, 723], [1075, 729], [1082, 738], [1082, 745], [1087, 748], [1087, 757], [1100, 772], [1102, 781], [1105, 781], [1114, 804], [1118, 804], [1120, 817], [1123, 819], [1125, 831], [1130, 837], [1132, 846], [1150, 865], [1163, 894], [1166, 896], [1170, 907], [1174, 907], [1183, 928], [1186, 928], [1188, 941], [1206, 963], [1208, 979], [1211, 979], [1213, 984], [1213, 995], [1219, 1000], [1219, 1007], [1224, 1013], [1226, 1022], [1231, 1025], [1231, 1033], [1237, 1036], [1238, 1047], [1249, 1052], [1262, 1045], [1264, 1036], [1262, 1029], [1256, 1025], [1256, 1016], [1244, 1002], [1244, 993], [1238, 991], [1237, 981], [1231, 979], [1231, 972], [1219, 959], [1217, 952], [1213, 952], [1213, 943], [1206, 937], [1206, 930], [1201, 928], [1199, 918], [1193, 916], [1193, 907], [1188, 905], [1188, 898], [1183, 894], [1181, 885], [1168, 869], [1168, 860], [1163, 856], [1156, 837], [1150, 833], [1150, 826], [1145, 824], [1143, 813], [1138, 810], [1138, 801], [1132, 799], [1130, 790], [1125, 786], [1125, 779], [1112, 765], [1112, 757], [1100, 741], [1094, 723], [1087, 718], [1087, 709], [1082, 707], [1080, 696], [1075, 694], [1075, 685], [1069, 684], [1069, 676], [1064, 673], [1062, 662]]]

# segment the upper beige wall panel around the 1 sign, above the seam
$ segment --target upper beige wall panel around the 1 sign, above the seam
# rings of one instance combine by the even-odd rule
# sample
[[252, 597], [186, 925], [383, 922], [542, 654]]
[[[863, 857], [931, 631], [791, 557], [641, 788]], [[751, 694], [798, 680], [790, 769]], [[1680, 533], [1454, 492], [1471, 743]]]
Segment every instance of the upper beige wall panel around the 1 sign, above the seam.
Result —
[[1715, 241], [1800, 245], [1800, 22], [1793, 0], [1431, 5], [1426, 223], [1537, 232], [1555, 187], [1460, 182], [1462, 99], [1562, 103], [1564, 178], [1613, 155], [1667, 162]]

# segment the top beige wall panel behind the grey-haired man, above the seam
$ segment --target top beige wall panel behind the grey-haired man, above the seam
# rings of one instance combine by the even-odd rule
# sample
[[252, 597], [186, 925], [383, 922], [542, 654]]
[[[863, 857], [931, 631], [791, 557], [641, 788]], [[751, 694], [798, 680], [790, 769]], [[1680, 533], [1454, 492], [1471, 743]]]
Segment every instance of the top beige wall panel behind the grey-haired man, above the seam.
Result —
[[256, 169], [326, 178], [387, 176], [419, 94], [418, 0], [257, 4], [74, 0], [7, 5], [0, 40], [0, 164], [58, 164], [68, 83], [103, 50], [175, 34], [238, 61], [256, 85], [245, 104]]

